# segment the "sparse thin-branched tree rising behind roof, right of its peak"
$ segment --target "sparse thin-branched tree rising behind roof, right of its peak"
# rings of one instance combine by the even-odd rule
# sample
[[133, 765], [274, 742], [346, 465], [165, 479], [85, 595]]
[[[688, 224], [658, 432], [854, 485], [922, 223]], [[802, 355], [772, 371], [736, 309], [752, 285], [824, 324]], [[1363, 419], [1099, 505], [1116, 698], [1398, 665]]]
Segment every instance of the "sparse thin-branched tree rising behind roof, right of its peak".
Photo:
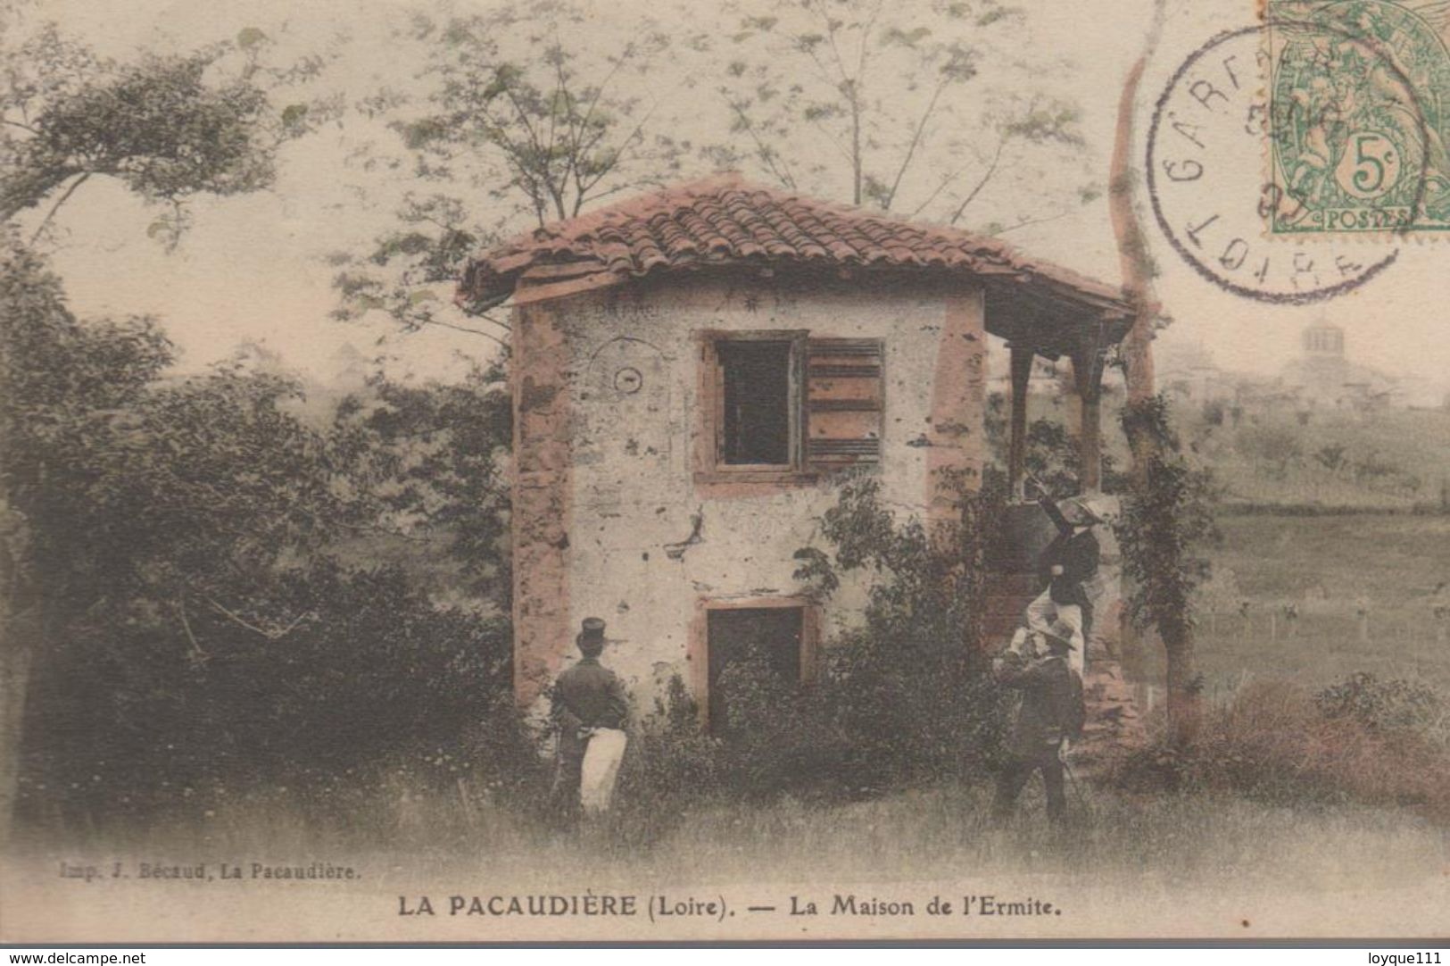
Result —
[[[996, 0], [909, 13], [886, 0], [780, 0], [740, 16], [718, 86], [734, 136], [712, 154], [721, 165], [751, 162], [792, 190], [837, 194], [844, 181], [854, 205], [956, 225], [1030, 157], [1056, 151], [1054, 161], [1072, 165], [1083, 144], [1072, 104], [1006, 86], [979, 90], [983, 75], [1028, 80], [992, 54], [1009, 45], [1021, 17]], [[989, 32], [996, 44], [976, 45]], [[1095, 196], [1080, 189], [1082, 200]], [[1060, 205], [1019, 210], [1016, 222], [989, 229], [1061, 213]]]

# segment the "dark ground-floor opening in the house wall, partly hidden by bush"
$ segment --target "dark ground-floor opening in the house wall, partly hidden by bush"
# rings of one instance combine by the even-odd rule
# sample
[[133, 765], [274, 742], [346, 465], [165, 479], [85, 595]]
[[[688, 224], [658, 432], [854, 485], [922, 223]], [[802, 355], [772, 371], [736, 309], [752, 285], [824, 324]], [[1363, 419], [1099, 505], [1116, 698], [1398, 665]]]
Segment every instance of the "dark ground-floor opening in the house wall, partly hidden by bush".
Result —
[[[709, 612], [709, 722], [721, 734], [731, 719], [731, 696], [750, 689], [780, 693], [800, 683], [802, 608], [731, 608]], [[737, 712], [737, 718], [740, 714]]]

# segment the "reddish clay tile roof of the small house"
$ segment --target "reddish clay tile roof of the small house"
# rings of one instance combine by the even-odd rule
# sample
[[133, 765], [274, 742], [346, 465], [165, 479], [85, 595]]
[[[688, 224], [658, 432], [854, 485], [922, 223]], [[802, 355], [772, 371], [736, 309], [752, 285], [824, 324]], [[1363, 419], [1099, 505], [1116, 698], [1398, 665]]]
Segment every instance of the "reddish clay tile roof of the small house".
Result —
[[542, 300], [655, 273], [718, 265], [966, 273], [998, 290], [1125, 319], [1122, 292], [973, 232], [800, 197], [724, 174], [545, 225], [473, 260], [468, 307]]

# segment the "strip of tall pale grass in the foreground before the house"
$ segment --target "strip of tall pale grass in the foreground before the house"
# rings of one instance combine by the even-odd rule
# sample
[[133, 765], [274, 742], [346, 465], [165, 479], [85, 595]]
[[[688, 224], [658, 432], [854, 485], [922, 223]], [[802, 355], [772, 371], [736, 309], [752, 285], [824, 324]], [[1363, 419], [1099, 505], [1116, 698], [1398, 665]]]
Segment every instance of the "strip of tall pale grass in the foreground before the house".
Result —
[[[450, 795], [380, 789], [347, 825], [303, 821], [281, 804], [238, 802], [117, 840], [70, 835], [67, 856], [248, 862], [309, 857], [358, 864], [368, 888], [441, 878], [486, 878], [509, 888], [594, 888], [650, 882], [729, 885], [909, 882], [1054, 876], [1099, 882], [1372, 882], [1395, 867], [1443, 867], [1444, 827], [1402, 811], [1354, 804], [1312, 808], [1221, 789], [1138, 793], [1077, 785], [1070, 822], [1053, 828], [1041, 788], [1019, 814], [989, 821], [990, 789], [942, 785], [831, 806], [703, 802], [655, 841], [626, 830], [557, 833], [500, 808]], [[33, 857], [58, 843], [28, 837]]]

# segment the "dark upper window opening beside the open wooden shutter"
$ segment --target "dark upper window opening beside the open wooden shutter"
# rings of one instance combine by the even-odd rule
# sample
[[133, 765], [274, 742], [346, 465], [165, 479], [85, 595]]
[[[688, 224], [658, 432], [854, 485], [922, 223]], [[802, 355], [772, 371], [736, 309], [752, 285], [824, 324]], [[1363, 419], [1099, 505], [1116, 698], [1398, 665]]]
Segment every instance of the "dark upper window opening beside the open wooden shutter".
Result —
[[721, 341], [721, 461], [790, 466], [790, 342]]

